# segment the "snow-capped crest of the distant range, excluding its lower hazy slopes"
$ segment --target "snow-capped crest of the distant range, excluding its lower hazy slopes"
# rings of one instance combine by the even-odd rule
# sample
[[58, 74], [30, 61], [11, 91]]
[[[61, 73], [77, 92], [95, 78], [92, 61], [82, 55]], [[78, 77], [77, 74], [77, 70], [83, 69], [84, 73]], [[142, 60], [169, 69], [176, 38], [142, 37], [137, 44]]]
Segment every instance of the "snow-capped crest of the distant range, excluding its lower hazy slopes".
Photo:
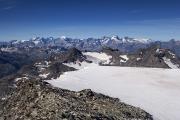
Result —
[[[137, 43], [137, 44], [148, 44], [152, 42], [151, 39], [145, 39], [145, 38], [130, 38], [130, 37], [122, 37], [120, 38], [117, 35], [114, 35], [112, 37], [104, 36], [102, 38], [96, 39], [96, 38], [88, 38], [88, 39], [73, 39], [73, 38], [67, 38], [66, 36], [61, 36], [59, 38], [43, 38], [43, 37], [34, 37], [29, 40], [16, 40], [12, 41], [13, 44], [20, 44], [25, 43], [24, 45], [32, 45], [31, 43], [34, 43], [35, 46], [38, 45], [59, 45], [59, 46], [82, 46], [85, 45], [86, 47], [90, 46], [97, 46], [101, 47], [104, 46], [112, 46], [112, 45], [118, 45], [122, 43], [131, 44], [131, 43]], [[22, 44], [21, 44], [22, 45]]]

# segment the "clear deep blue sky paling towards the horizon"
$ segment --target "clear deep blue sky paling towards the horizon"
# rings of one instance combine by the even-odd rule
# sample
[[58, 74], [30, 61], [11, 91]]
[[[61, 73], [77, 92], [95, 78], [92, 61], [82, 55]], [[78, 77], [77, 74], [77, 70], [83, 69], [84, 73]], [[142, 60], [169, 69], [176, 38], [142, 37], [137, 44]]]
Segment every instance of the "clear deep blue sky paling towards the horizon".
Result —
[[119, 35], [180, 39], [179, 0], [0, 0], [0, 40]]

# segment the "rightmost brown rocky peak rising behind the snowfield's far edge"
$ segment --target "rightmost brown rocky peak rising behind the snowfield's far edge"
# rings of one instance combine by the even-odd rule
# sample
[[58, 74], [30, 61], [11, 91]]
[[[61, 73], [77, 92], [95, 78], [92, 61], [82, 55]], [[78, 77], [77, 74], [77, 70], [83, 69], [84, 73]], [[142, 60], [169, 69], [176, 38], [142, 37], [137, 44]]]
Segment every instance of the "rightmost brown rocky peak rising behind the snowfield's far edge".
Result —
[[135, 54], [129, 54], [129, 60], [124, 66], [170, 68], [163, 58], [168, 58], [173, 64], [180, 65], [180, 59], [177, 56], [174, 57], [169, 49], [162, 49], [162, 54], [157, 53], [157, 49], [159, 49], [159, 47], [155, 45], [146, 49], [140, 49]]

